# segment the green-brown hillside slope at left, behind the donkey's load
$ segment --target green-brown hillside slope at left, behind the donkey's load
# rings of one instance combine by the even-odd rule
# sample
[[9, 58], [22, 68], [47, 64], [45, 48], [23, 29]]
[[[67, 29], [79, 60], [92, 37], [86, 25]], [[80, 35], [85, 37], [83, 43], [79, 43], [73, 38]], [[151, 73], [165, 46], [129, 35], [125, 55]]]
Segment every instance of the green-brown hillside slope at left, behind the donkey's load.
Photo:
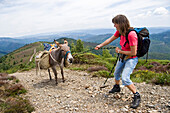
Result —
[[25, 45], [0, 58], [0, 71], [8, 70], [7, 73], [15, 72], [21, 68], [30, 69], [29, 59], [34, 52], [43, 50], [40, 42]]

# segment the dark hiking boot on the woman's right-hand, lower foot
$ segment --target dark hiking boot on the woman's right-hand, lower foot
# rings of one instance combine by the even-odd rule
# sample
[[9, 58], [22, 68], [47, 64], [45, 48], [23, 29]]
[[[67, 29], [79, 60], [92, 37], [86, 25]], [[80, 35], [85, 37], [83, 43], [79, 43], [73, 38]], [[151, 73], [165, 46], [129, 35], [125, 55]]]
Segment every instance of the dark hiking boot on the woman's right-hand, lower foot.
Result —
[[133, 108], [133, 109], [136, 109], [139, 106], [140, 101], [141, 101], [140, 94], [137, 92], [137, 93], [134, 94], [133, 102], [131, 103], [130, 107]]

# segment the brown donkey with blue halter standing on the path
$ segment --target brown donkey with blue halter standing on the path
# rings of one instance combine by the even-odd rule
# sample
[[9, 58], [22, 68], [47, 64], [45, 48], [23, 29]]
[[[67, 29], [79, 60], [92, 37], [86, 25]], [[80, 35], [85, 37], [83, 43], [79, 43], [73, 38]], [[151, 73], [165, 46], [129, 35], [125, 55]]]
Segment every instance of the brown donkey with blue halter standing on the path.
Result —
[[[66, 40], [64, 40], [64, 44], [60, 44], [56, 40], [54, 41], [57, 44], [58, 48], [53, 49], [51, 51], [49, 56], [49, 63], [50, 63], [50, 67], [54, 72], [56, 85], [57, 85], [58, 82], [57, 82], [56, 66], [59, 65], [61, 69], [62, 81], [64, 82], [65, 80], [64, 80], [63, 66], [66, 67], [66, 62], [73, 63], [73, 56], [71, 55], [70, 47], [68, 46], [68, 42]], [[52, 80], [50, 69], [48, 69], [48, 73], [49, 73], [50, 80]]]

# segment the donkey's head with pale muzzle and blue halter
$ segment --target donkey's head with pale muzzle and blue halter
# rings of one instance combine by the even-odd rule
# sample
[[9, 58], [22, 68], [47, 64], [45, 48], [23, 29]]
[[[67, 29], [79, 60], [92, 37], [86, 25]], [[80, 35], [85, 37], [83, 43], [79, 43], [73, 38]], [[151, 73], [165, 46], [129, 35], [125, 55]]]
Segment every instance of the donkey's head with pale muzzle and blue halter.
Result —
[[68, 46], [67, 40], [64, 40], [64, 44], [60, 44], [57, 41], [55, 41], [55, 43], [61, 49], [64, 59], [67, 60], [69, 63], [73, 63], [73, 56], [71, 55], [70, 47]]

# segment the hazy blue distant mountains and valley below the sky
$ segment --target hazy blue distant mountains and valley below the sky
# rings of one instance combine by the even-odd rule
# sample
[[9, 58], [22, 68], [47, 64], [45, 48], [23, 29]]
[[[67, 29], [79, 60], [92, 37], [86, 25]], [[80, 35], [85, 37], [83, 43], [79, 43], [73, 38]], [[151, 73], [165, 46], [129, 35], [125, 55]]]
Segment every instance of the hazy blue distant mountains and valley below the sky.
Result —
[[[153, 53], [151, 58], [170, 59], [167, 58], [170, 54], [170, 28], [150, 28], [150, 39], [152, 41], [150, 52]], [[162, 32], [161, 32], [162, 31]], [[85, 42], [101, 43], [109, 38], [115, 32], [114, 29], [96, 29], [96, 30], [79, 30], [73, 32], [65, 32], [58, 34], [39, 34], [34, 36], [24, 36], [20, 38], [0, 37], [0, 57], [10, 53], [25, 44], [30, 44], [38, 41], [53, 42], [54, 39], [72, 38], [81, 39]], [[95, 44], [93, 44], [94, 46]], [[119, 40], [111, 43], [113, 46], [119, 46]], [[156, 54], [156, 55], [155, 55]], [[158, 55], [159, 54], [159, 55]], [[161, 58], [163, 56], [163, 58]]]

